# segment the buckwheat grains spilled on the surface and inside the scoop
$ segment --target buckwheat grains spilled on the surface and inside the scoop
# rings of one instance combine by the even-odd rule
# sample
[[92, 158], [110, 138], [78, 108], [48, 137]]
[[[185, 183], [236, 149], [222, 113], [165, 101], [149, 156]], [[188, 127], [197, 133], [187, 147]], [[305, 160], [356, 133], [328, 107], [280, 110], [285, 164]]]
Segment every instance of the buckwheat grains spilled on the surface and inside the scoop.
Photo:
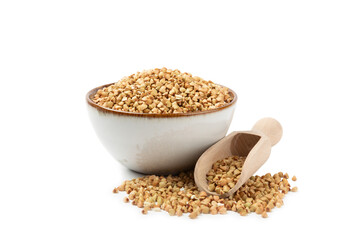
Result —
[[[245, 158], [230, 156], [215, 162], [207, 174], [210, 190], [226, 192], [236, 184]], [[126, 180], [113, 192], [125, 191], [128, 196], [124, 202], [142, 208], [142, 213], [164, 210], [170, 216], [182, 216], [189, 213], [191, 219], [200, 214], [226, 214], [234, 211], [241, 216], [255, 212], [263, 218], [268, 217], [274, 207], [283, 205], [283, 198], [291, 188], [289, 175], [282, 172], [271, 175], [252, 176], [233, 196], [220, 198], [199, 191], [192, 172], [181, 172], [173, 176], [148, 175]], [[296, 177], [292, 177], [296, 181]]]

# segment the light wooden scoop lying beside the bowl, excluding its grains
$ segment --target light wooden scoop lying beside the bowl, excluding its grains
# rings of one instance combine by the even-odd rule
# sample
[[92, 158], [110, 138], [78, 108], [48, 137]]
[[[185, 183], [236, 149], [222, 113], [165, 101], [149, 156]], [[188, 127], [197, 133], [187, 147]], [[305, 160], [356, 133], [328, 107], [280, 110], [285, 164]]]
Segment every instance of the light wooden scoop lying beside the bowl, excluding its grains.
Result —
[[[228, 197], [234, 194], [269, 158], [271, 147], [278, 143], [282, 136], [282, 127], [273, 118], [263, 118], [255, 123], [251, 131], [232, 132], [208, 150], [196, 163], [194, 170], [195, 183], [200, 191], [207, 194]], [[246, 157], [238, 182], [227, 193], [222, 195], [210, 192], [206, 174], [213, 163], [233, 155]]]

